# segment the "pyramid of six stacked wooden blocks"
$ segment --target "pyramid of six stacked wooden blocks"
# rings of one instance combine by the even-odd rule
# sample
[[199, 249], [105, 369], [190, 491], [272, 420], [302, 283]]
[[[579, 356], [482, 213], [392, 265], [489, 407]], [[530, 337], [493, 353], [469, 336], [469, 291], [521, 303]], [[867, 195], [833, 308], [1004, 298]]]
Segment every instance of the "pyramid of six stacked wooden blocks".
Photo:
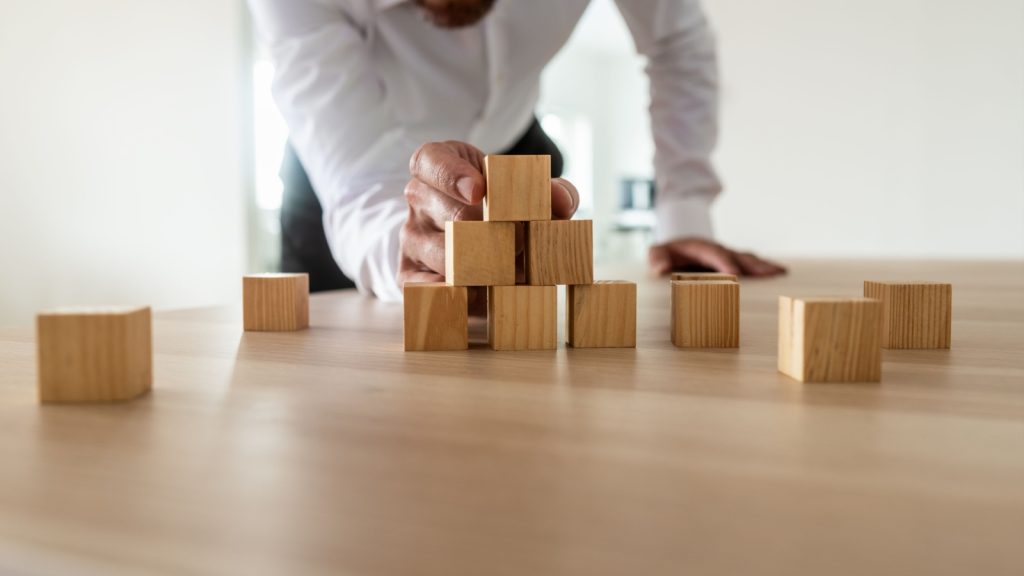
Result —
[[[406, 349], [465, 349], [467, 287], [487, 289], [487, 341], [498, 351], [557, 346], [557, 286], [568, 287], [568, 343], [636, 345], [636, 285], [594, 283], [593, 223], [551, 219], [551, 158], [488, 156], [482, 221], [444, 227], [445, 284], [404, 286]], [[523, 227], [524, 284], [516, 283]]]

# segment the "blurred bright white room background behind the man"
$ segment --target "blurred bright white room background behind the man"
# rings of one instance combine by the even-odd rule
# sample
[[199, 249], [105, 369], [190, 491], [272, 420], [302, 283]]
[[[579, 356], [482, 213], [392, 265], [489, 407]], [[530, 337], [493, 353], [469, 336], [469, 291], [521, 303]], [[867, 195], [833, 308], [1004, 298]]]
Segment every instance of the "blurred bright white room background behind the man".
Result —
[[[705, 7], [720, 240], [783, 260], [1024, 258], [1024, 0]], [[237, 301], [241, 275], [272, 270], [272, 74], [243, 0], [0, 0], [0, 324]], [[539, 113], [605, 261], [645, 257], [646, 106], [643, 60], [593, 0]]]

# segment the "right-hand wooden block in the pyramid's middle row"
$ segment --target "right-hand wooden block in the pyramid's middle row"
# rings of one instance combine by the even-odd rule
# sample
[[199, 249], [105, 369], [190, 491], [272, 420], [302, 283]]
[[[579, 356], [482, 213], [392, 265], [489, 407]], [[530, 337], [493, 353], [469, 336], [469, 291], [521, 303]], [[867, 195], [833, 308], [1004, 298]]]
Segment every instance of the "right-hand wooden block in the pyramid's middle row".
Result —
[[526, 224], [526, 284], [594, 283], [594, 225], [591, 220]]

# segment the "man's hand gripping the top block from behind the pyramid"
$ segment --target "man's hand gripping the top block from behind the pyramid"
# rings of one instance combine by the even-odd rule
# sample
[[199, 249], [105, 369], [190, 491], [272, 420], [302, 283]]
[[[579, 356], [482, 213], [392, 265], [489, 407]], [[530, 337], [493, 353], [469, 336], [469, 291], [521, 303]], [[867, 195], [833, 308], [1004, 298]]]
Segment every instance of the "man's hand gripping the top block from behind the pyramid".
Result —
[[[409, 171], [409, 218], [400, 235], [398, 283], [443, 282], [444, 222], [483, 217], [483, 153], [465, 142], [428, 142], [413, 154]], [[579, 206], [575, 187], [563, 178], [552, 178], [552, 218], [571, 218]], [[521, 227], [517, 227], [517, 255], [522, 251], [522, 238]], [[470, 310], [479, 312], [483, 301], [480, 291], [470, 292]]]

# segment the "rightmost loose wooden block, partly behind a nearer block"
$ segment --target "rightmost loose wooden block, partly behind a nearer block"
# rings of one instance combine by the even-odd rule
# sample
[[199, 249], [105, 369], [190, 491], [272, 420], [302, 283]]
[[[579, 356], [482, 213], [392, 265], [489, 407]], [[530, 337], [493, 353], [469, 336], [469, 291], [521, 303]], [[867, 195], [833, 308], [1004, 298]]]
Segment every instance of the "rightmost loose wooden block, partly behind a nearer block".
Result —
[[949, 347], [951, 284], [865, 281], [864, 296], [882, 300], [882, 347]]

